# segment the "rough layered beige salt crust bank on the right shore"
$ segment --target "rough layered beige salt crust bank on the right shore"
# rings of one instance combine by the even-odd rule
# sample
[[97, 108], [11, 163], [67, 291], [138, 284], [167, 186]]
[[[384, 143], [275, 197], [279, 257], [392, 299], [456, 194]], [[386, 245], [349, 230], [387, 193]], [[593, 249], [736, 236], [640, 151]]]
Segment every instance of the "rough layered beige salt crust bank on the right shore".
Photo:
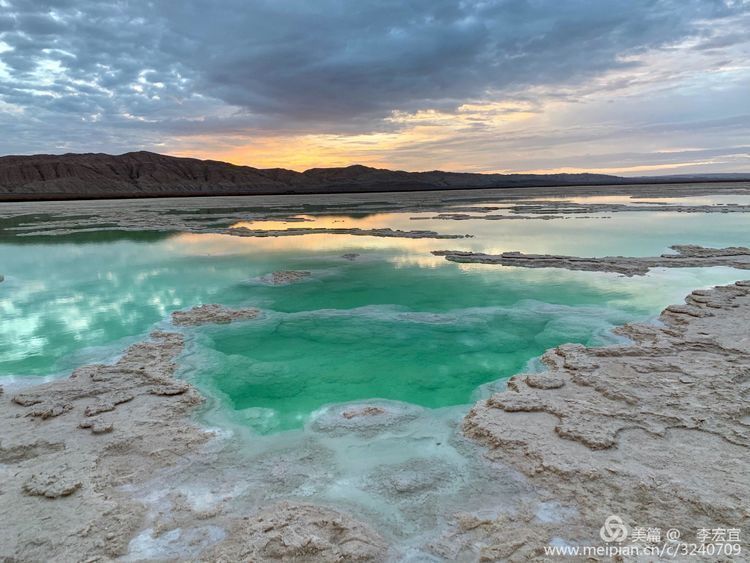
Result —
[[[512, 547], [490, 542], [490, 558], [536, 557], [553, 537], [602, 545], [613, 514], [688, 543], [701, 528], [741, 529], [746, 556], [750, 281], [696, 290], [659, 321], [617, 329], [631, 344], [550, 350], [548, 372], [511, 378], [466, 416], [490, 456], [575, 510], [557, 529], [520, 527]], [[487, 541], [496, 529], [475, 522], [471, 533]]]

